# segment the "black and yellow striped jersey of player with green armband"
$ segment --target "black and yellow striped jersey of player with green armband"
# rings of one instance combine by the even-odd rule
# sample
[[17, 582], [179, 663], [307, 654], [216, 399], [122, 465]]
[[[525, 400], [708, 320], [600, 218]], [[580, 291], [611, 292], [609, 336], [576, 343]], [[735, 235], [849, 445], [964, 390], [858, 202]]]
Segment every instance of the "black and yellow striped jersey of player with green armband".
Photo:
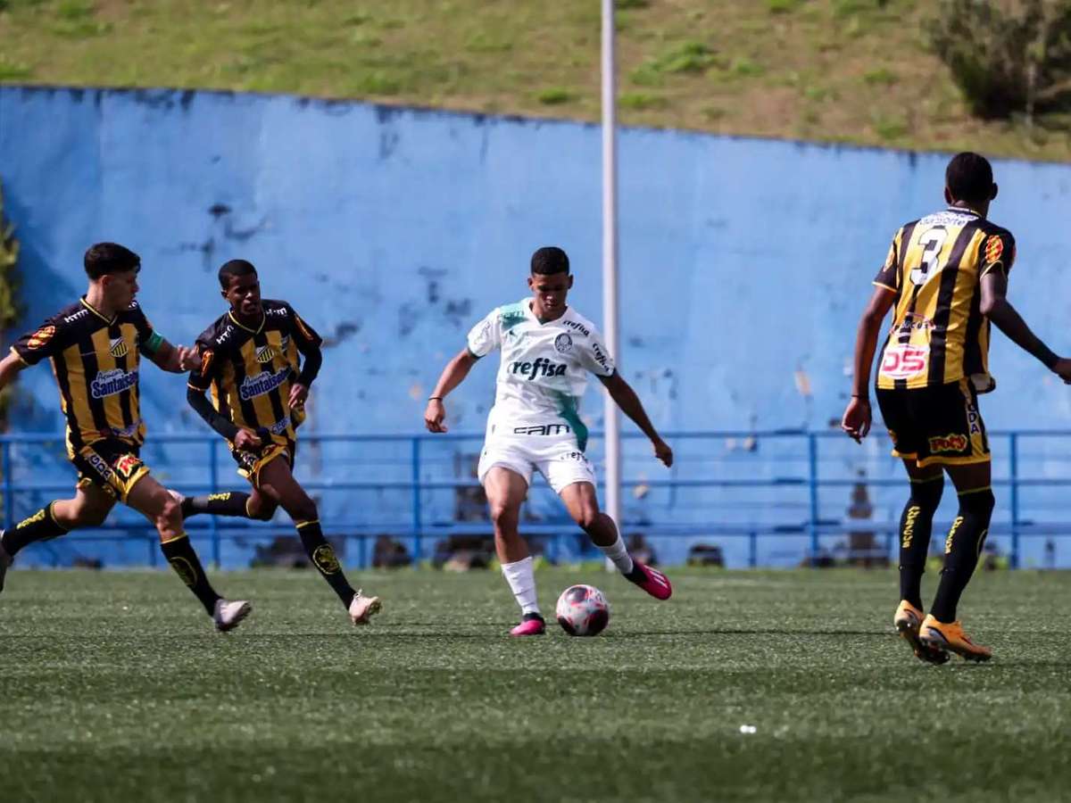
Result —
[[152, 340], [136, 301], [109, 319], [82, 298], [19, 337], [12, 351], [27, 365], [51, 360], [73, 455], [104, 438], [145, 442], [138, 366]]

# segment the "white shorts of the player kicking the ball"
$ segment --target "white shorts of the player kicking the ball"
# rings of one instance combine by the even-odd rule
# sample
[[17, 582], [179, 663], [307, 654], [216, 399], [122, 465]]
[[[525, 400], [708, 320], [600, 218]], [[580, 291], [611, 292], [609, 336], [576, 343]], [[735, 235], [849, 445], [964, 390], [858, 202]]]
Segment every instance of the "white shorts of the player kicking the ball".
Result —
[[576, 438], [552, 435], [494, 437], [484, 441], [477, 475], [483, 485], [487, 472], [496, 466], [521, 474], [532, 484], [532, 471], [539, 471], [555, 494], [574, 483], [595, 484], [591, 460], [576, 445]]

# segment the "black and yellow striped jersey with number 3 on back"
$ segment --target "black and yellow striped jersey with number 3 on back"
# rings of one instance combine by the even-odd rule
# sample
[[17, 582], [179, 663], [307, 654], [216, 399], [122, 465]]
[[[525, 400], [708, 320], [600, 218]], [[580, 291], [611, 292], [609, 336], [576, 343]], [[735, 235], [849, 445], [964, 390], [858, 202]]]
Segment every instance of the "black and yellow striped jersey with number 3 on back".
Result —
[[997, 269], [1007, 274], [1014, 260], [1011, 232], [969, 209], [947, 209], [901, 227], [874, 279], [896, 293], [877, 387], [967, 378], [979, 393], [993, 390], [981, 278]]

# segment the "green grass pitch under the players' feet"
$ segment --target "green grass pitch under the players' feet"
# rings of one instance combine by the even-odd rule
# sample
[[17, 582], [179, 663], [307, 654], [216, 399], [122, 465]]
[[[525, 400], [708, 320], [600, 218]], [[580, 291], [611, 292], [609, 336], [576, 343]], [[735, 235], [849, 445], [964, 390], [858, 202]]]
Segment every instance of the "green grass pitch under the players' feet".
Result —
[[[359, 576], [355, 632], [311, 573], [216, 575], [218, 635], [171, 575], [14, 572], [0, 596], [0, 800], [1056, 800], [1071, 781], [1071, 576], [979, 575], [992, 664], [919, 664], [887, 572], [538, 574], [609, 630], [512, 640], [492, 573]], [[927, 593], [932, 592], [932, 576]], [[1056, 613], [1056, 616], [1053, 616]], [[755, 731], [741, 732], [741, 726]]]

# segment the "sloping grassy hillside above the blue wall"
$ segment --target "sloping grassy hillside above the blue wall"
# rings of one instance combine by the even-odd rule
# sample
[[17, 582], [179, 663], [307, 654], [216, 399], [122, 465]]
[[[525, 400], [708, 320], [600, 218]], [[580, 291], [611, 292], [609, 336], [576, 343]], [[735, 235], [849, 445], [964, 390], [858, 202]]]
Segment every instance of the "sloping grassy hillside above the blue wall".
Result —
[[[1071, 161], [1061, 121], [969, 116], [923, 0], [617, 7], [624, 123]], [[599, 117], [597, 0], [0, 0], [0, 82]]]

